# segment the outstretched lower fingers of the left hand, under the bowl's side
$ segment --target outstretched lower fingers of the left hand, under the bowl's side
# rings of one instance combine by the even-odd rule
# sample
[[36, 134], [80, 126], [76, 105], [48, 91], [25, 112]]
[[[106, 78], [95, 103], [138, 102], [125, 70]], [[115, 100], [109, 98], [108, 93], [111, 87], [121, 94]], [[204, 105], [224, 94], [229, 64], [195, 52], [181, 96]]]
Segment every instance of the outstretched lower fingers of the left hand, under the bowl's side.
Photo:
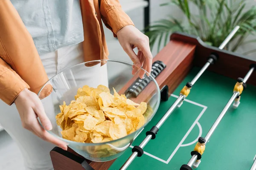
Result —
[[35, 119], [30, 126], [34, 134], [36, 134], [41, 139], [50, 142], [52, 144], [55, 144], [58, 147], [61, 147], [63, 150], [67, 150], [67, 144], [60, 139], [55, 138], [50, 133], [48, 133], [46, 130], [44, 130], [43, 127], [40, 126], [37, 119]]

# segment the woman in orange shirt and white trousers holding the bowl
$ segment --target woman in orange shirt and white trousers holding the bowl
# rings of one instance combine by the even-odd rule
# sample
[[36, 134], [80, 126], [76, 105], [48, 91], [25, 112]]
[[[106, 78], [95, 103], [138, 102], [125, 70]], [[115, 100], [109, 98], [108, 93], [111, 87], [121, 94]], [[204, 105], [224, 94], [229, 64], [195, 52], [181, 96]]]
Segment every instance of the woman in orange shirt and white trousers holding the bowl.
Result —
[[55, 145], [67, 150], [46, 131], [52, 125], [41, 101], [51, 89], [45, 89], [43, 100], [36, 94], [64, 68], [108, 59], [101, 20], [136, 65], [132, 73], [141, 67], [151, 72], [148, 37], [118, 0], [0, 1], [0, 99], [7, 104], [0, 103], [0, 124], [17, 142], [26, 169], [51, 170], [49, 151]]

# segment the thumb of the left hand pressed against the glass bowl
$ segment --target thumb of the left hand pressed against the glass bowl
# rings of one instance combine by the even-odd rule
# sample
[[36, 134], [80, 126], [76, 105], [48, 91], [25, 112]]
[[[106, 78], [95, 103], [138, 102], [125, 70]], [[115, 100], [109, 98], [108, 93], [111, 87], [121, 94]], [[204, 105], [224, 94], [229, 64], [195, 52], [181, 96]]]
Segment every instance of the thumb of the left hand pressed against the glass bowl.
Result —
[[38, 115], [41, 124], [46, 130], [52, 130], [52, 123], [50, 122], [49, 118], [47, 117], [44, 107], [41, 101], [38, 101], [36, 105], [33, 107], [35, 113]]

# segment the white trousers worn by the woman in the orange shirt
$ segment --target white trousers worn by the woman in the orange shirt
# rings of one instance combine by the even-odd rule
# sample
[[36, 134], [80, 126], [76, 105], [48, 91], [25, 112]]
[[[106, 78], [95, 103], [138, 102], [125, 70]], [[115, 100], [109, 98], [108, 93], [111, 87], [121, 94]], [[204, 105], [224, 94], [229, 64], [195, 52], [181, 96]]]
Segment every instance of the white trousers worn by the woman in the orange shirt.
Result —
[[[63, 69], [84, 61], [82, 44], [60, 48], [55, 52], [42, 54], [40, 58], [48, 77], [51, 78]], [[103, 71], [104, 69], [105, 71]], [[107, 66], [104, 69], [102, 68], [100, 73], [99, 70], [90, 70], [90, 73], [83, 73], [84, 78], [98, 85], [108, 85]], [[42, 102], [44, 104], [44, 101]], [[53, 170], [49, 152], [55, 146], [22, 127], [15, 104], [9, 106], [0, 100], [0, 108], [0, 125], [20, 148], [26, 170]], [[50, 117], [54, 118], [55, 116], [52, 112], [46, 111], [48, 116], [51, 114]]]

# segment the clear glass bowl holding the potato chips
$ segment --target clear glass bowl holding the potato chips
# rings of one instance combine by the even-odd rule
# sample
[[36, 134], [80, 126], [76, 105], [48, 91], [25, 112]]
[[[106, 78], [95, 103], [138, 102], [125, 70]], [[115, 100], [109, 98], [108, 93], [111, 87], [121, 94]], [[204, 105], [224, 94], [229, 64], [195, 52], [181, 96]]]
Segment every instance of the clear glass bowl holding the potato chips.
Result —
[[[142, 68], [141, 70], [145, 71]], [[132, 75], [132, 64], [116, 60], [83, 62], [61, 71], [49, 79], [38, 93], [38, 96], [42, 97], [47, 88], [52, 88], [51, 94], [41, 100], [53, 126], [52, 130], [48, 132], [67, 142], [68, 147], [88, 160], [110, 161], [116, 159], [130, 147], [137, 135], [151, 121], [160, 104], [160, 89], [156, 80], [150, 74], [148, 76], [145, 74], [143, 79], [140, 79], [139, 75], [140, 71]], [[134, 90], [140, 92], [143, 89], [137, 96], [128, 91], [133, 85], [136, 86], [135, 81], [139, 81], [140, 85]], [[141, 84], [146, 85], [145, 88]], [[146, 102], [147, 110], [143, 114], [145, 117], [144, 125], [127, 136], [109, 142], [82, 143], [62, 138], [62, 129], [57, 125], [55, 117], [61, 112], [59, 106], [63, 105], [63, 102], [69, 105], [72, 100], [75, 100], [78, 89], [84, 85], [92, 88], [105, 85], [110, 89], [111, 94], [113, 94], [114, 88], [119, 95], [125, 94], [127, 99], [138, 104]], [[39, 119], [38, 121], [40, 122]]]

